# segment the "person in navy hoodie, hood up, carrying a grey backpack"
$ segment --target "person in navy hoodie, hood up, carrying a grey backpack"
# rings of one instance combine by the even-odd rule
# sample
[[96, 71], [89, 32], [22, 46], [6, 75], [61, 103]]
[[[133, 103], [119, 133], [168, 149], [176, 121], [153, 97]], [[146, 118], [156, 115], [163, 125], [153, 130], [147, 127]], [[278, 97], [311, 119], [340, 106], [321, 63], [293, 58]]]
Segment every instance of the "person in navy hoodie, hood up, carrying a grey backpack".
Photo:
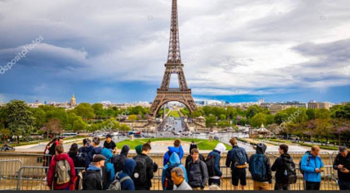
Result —
[[119, 180], [129, 177], [122, 181], [121, 184], [121, 190], [135, 190], [135, 184], [134, 181], [130, 178], [134, 169], [136, 167], [136, 162], [133, 159], [126, 159], [124, 162], [123, 170], [121, 172], [117, 173], [117, 178]]

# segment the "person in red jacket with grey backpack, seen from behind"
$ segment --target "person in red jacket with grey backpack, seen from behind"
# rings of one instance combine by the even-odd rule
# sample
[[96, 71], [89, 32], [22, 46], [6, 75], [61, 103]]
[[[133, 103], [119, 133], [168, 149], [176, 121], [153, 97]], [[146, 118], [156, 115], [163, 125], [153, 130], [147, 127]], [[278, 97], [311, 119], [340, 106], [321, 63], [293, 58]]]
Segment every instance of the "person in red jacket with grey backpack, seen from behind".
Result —
[[[49, 171], [47, 174], [47, 185], [52, 189], [52, 183], [53, 183], [52, 190], [69, 190], [70, 185], [74, 183], [74, 179], [76, 175], [73, 160], [68, 156], [67, 153], [64, 153], [64, 149], [62, 145], [57, 145], [55, 150], [56, 150], [56, 155], [52, 157], [52, 160], [49, 166]], [[56, 164], [59, 160], [64, 160], [64, 159], [68, 161], [70, 166], [70, 181], [65, 184], [57, 184], [55, 179]]]

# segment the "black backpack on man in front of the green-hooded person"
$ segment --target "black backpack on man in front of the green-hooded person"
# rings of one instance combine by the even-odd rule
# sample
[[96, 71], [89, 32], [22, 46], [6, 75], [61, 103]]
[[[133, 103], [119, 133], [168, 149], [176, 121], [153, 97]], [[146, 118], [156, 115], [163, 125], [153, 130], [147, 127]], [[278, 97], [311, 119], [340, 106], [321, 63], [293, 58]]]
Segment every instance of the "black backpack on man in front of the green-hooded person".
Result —
[[136, 156], [134, 158], [136, 162], [136, 167], [132, 174], [132, 179], [134, 180], [135, 186], [144, 186], [146, 183], [147, 174], [147, 162], [142, 156]]

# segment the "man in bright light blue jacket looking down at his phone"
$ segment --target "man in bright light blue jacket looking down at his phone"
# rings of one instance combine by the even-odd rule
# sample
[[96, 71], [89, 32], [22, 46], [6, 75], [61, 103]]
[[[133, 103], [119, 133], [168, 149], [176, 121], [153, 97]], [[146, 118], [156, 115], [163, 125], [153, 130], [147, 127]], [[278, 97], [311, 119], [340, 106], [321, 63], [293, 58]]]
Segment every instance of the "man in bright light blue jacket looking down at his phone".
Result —
[[310, 153], [301, 158], [300, 169], [304, 171], [305, 190], [320, 190], [324, 164], [318, 154], [320, 154], [320, 147], [315, 145], [311, 148]]

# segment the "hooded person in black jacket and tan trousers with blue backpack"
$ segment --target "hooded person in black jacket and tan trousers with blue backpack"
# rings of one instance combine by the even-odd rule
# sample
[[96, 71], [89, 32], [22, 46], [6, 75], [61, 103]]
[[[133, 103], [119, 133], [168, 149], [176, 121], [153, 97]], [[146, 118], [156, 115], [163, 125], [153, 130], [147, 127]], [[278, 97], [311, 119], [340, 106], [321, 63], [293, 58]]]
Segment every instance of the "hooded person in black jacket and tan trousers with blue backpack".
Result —
[[[271, 174], [271, 165], [269, 158], [265, 155], [265, 151], [267, 149], [267, 146], [264, 143], [258, 143], [257, 145], [257, 151], [255, 154], [250, 156], [249, 158], [249, 171], [252, 174], [253, 179], [253, 190], [271, 190], [271, 184], [272, 184], [272, 174]], [[262, 164], [265, 166], [266, 172], [265, 175], [261, 177], [256, 177], [255, 172], [259, 171], [259, 168], [256, 168], [255, 164], [256, 160], [259, 160], [259, 157], [262, 158]], [[259, 174], [257, 176], [261, 176], [262, 174]]]

